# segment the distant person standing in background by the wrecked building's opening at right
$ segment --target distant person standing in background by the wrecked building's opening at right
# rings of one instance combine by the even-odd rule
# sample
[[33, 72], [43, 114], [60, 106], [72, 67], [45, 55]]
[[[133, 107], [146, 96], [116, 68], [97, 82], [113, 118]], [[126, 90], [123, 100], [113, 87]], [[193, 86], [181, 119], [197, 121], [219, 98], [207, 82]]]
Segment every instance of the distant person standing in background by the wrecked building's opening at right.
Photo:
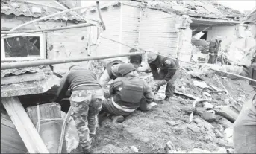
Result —
[[210, 45], [209, 45], [209, 64], [215, 64], [217, 57], [218, 57], [218, 53], [220, 50], [220, 42], [221, 42], [222, 37], [221, 36], [216, 36], [216, 39], [213, 39], [212, 41], [210, 41]]

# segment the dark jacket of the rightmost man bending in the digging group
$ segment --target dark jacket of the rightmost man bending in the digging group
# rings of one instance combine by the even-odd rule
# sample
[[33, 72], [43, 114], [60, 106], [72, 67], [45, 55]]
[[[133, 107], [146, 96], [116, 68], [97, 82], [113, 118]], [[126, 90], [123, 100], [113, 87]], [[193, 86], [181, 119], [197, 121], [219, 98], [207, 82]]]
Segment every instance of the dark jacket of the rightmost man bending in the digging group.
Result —
[[154, 60], [154, 62], [149, 63], [149, 67], [151, 68], [154, 80], [158, 79], [157, 68], [160, 68], [162, 71], [167, 71], [165, 80], [169, 81], [172, 79], [173, 75], [175, 74], [175, 72], [177, 70], [178, 61], [171, 60], [167, 57], [162, 57], [162, 56], [158, 55], [157, 58]]

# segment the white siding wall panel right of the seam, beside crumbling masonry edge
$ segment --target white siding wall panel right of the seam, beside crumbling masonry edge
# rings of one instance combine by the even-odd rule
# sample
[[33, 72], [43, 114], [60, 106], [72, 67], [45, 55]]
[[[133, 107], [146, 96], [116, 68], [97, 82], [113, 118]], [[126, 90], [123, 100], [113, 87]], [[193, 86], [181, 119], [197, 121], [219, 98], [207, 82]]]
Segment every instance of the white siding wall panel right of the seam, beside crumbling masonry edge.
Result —
[[153, 49], [175, 57], [178, 33], [177, 15], [146, 9], [140, 23], [140, 48]]

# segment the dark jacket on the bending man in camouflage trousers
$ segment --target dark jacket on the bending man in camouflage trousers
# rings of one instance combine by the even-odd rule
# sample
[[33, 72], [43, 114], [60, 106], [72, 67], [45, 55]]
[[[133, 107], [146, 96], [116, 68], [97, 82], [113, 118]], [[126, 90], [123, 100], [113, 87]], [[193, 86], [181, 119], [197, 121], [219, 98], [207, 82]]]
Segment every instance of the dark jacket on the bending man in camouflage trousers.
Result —
[[60, 87], [57, 90], [55, 102], [60, 102], [68, 89], [73, 92], [76, 90], [96, 90], [101, 88], [93, 71], [86, 69], [71, 70], [63, 76]]

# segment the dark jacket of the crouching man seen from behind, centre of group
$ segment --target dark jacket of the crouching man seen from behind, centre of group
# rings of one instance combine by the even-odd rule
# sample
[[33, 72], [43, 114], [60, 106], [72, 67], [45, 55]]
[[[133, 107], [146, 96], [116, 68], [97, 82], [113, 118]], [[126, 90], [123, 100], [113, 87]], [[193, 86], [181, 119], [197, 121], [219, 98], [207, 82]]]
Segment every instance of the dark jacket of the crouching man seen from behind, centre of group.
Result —
[[154, 93], [152, 92], [152, 89], [150, 89], [150, 87], [148, 86], [145, 80], [142, 80], [139, 77], [119, 77], [116, 80], [114, 80], [113, 83], [110, 84], [110, 94], [113, 95], [113, 100], [119, 106], [125, 106], [125, 108], [127, 109], [137, 109], [137, 107], [140, 106], [140, 103], [131, 103], [131, 102], [122, 100], [122, 98], [125, 98], [125, 97], [130, 97], [131, 99], [136, 97], [134, 96], [135, 93], [130, 94], [129, 91], [122, 93], [123, 95], [120, 94], [121, 90], [123, 89], [123, 82], [125, 82], [125, 80], [129, 80], [134, 85], [141, 86], [143, 88], [141, 95], [139, 91], [135, 92], [136, 89], [135, 91], [134, 89], [131, 89], [130, 91], [131, 93], [135, 92], [136, 95], [139, 94], [141, 96], [140, 100], [145, 98], [147, 103], [151, 103], [154, 100]]

